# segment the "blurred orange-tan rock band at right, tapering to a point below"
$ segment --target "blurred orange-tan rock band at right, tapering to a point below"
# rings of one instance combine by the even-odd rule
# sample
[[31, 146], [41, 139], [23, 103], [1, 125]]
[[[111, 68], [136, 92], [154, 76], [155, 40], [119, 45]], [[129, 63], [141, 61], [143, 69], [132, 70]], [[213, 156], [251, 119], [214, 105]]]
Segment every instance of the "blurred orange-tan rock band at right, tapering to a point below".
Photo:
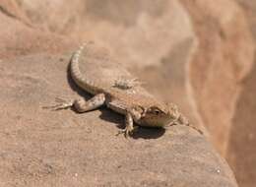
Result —
[[243, 11], [233, 1], [181, 2], [199, 37], [190, 63], [191, 94], [214, 144], [225, 156], [240, 83], [253, 64], [252, 36]]

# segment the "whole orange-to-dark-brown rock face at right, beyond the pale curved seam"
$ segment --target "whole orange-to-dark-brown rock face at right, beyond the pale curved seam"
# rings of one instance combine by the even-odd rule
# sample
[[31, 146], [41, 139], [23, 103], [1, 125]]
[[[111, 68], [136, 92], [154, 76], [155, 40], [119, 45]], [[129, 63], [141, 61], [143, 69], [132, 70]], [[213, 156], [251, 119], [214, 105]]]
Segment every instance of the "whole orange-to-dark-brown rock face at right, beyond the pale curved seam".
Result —
[[[249, 0], [237, 0], [239, 4], [215, 1], [214, 5], [205, 1], [182, 2], [194, 18], [201, 38], [201, 52], [199, 49], [191, 63], [200, 114], [239, 185], [252, 187], [256, 178], [256, 4]], [[196, 7], [201, 9], [195, 10]], [[201, 72], [202, 69], [206, 71]]]

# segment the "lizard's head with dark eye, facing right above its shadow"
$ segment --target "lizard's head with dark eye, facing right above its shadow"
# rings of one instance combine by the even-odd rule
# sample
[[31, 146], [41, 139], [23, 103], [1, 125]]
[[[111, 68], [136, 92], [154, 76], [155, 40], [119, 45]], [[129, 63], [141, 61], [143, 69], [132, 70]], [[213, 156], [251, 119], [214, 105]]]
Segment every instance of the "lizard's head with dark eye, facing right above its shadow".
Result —
[[142, 114], [141, 124], [151, 127], [163, 127], [176, 121], [180, 114], [176, 106], [151, 106]]

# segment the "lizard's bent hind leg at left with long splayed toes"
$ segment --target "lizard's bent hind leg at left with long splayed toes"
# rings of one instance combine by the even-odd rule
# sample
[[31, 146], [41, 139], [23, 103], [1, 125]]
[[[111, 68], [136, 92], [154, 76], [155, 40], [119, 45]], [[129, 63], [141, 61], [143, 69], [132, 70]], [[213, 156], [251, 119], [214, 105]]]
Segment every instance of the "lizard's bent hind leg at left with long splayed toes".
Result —
[[71, 101], [65, 101], [63, 99], [59, 99], [59, 104], [54, 106], [47, 106], [44, 108], [52, 108], [53, 110], [67, 109], [70, 107], [74, 107], [78, 112], [86, 112], [90, 110], [94, 110], [99, 106], [103, 105], [105, 101], [104, 94], [96, 94], [89, 100], [85, 100], [85, 98], [79, 98]]

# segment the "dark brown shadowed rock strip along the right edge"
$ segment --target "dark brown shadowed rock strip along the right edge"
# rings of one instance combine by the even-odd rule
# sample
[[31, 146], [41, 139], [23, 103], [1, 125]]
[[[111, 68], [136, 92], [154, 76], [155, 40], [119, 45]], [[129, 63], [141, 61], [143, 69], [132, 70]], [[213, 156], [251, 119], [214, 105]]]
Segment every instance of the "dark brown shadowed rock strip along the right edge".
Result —
[[[244, 9], [250, 29], [256, 41], [256, 2], [237, 0]], [[256, 183], [256, 61], [250, 74], [242, 82], [242, 92], [237, 99], [232, 118], [226, 158], [233, 168], [241, 187], [253, 187]]]

